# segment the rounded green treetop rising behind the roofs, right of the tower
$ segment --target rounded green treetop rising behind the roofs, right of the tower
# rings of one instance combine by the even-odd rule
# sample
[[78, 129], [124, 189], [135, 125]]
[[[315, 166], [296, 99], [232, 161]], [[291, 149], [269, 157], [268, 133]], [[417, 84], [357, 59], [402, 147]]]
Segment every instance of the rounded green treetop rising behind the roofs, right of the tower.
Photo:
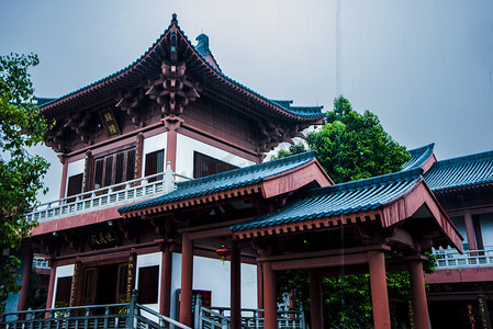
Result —
[[335, 183], [396, 172], [410, 159], [376, 114], [354, 111], [344, 97], [334, 100], [322, 129], [309, 134], [306, 141]]

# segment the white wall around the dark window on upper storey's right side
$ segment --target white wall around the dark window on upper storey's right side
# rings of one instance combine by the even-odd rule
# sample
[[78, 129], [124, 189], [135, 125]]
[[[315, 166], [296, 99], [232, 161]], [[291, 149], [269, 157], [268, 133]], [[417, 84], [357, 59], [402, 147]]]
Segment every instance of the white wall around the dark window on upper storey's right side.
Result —
[[193, 178], [193, 151], [199, 151], [209, 157], [219, 159], [221, 161], [231, 163], [237, 167], [247, 167], [255, 164], [254, 161], [249, 161], [242, 157], [232, 155], [222, 149], [208, 145], [205, 143], [192, 139], [181, 134], [177, 135], [177, 172]]

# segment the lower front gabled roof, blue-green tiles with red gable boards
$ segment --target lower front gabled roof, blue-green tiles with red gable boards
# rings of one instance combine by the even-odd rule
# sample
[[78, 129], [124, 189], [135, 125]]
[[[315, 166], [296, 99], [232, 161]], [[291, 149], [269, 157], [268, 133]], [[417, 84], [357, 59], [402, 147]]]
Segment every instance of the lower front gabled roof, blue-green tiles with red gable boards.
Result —
[[[236, 238], [294, 232], [379, 220], [390, 227], [412, 217], [425, 204], [450, 245], [461, 237], [423, 179], [423, 169], [313, 189], [276, 214], [231, 227]], [[411, 196], [412, 195], [412, 196]], [[405, 211], [403, 211], [405, 209]]]

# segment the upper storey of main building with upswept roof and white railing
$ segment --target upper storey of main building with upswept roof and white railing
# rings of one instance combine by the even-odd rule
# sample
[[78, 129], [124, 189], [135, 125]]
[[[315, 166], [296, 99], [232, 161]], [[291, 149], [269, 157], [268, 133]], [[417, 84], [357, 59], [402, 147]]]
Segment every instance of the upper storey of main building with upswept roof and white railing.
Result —
[[45, 143], [64, 167], [60, 201], [38, 207], [46, 209], [40, 222], [80, 212], [82, 200], [99, 200], [88, 209], [108, 206], [104, 198], [121, 197], [113, 192], [159, 184], [166, 163], [181, 180], [260, 163], [280, 143], [323, 123], [322, 106], [270, 100], [227, 77], [208, 36], [197, 41], [173, 15], [126, 68], [41, 105], [55, 123]]

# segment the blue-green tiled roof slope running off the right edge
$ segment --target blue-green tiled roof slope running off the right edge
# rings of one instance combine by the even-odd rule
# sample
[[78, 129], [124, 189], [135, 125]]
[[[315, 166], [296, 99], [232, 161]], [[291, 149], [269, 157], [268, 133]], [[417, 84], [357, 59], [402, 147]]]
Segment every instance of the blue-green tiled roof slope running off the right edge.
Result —
[[435, 162], [425, 181], [434, 192], [493, 183], [493, 151]]

